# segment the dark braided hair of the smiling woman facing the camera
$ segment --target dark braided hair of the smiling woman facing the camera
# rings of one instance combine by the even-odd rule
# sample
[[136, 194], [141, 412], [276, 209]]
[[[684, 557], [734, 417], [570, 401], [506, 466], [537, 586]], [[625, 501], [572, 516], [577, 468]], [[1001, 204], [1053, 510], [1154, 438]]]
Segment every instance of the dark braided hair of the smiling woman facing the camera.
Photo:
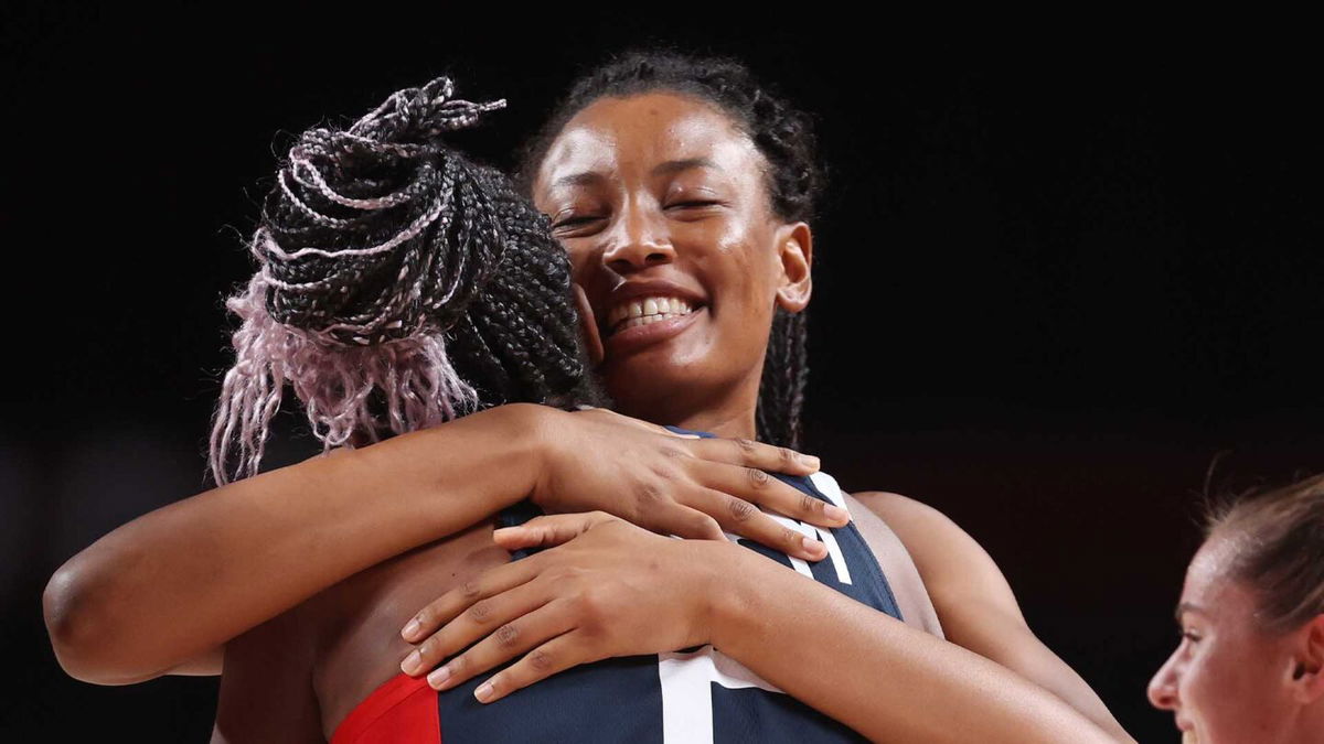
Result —
[[[773, 212], [788, 222], [810, 221], [825, 173], [810, 116], [757, 82], [741, 62], [673, 50], [625, 52], [581, 77], [539, 134], [524, 147], [520, 187], [530, 192], [552, 140], [583, 109], [604, 97], [651, 91], [688, 94], [716, 105], [763, 154]], [[776, 310], [759, 387], [759, 438], [800, 446], [800, 412], [809, 377], [805, 312]]]

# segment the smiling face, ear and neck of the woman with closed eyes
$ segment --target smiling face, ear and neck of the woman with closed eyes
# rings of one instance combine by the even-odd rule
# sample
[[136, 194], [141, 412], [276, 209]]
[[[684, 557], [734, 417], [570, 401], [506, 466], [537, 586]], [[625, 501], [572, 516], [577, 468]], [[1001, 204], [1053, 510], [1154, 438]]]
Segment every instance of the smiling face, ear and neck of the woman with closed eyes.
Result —
[[752, 425], [775, 306], [809, 301], [809, 228], [776, 217], [764, 168], [724, 113], [671, 93], [601, 98], [548, 148], [534, 201], [569, 250], [622, 412]]

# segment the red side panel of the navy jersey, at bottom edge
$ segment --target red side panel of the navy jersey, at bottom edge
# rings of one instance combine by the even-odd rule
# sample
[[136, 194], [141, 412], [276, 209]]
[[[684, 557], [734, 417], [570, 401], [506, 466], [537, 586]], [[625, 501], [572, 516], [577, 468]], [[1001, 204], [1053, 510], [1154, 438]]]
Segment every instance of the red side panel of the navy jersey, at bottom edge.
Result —
[[331, 744], [441, 744], [437, 691], [428, 678], [397, 674], [335, 727]]

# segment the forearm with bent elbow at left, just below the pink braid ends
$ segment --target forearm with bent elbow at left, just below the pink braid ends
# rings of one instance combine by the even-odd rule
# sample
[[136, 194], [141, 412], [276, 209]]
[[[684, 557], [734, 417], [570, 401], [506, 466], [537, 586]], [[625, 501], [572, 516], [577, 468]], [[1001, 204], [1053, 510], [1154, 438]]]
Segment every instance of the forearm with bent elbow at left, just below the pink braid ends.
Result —
[[538, 477], [527, 406], [503, 406], [159, 508], [70, 559], [42, 597], [65, 670], [159, 675], [319, 590], [457, 532]]

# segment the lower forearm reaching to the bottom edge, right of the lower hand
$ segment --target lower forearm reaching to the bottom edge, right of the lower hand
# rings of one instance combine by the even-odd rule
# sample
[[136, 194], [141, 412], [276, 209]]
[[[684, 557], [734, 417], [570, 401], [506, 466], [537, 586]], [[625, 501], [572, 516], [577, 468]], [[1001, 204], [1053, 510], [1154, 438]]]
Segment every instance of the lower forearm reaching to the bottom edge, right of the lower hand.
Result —
[[[720, 549], [728, 549], [720, 545]], [[718, 579], [712, 638], [785, 692], [878, 741], [1117, 741], [1062, 699], [763, 556]]]

